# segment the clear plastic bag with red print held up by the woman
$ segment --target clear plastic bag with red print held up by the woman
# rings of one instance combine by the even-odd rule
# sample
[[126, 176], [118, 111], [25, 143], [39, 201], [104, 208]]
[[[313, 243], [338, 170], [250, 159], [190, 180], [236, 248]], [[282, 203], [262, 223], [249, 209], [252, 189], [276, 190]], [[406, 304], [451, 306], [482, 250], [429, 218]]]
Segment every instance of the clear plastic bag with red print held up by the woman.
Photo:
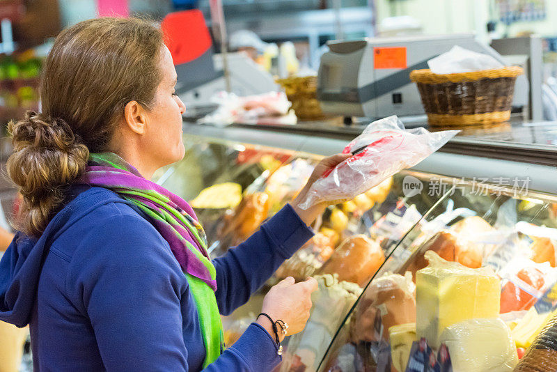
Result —
[[374, 121], [343, 150], [354, 156], [315, 181], [300, 208], [353, 199], [398, 171], [418, 164], [457, 133], [432, 133], [423, 127], [405, 130], [397, 116]]

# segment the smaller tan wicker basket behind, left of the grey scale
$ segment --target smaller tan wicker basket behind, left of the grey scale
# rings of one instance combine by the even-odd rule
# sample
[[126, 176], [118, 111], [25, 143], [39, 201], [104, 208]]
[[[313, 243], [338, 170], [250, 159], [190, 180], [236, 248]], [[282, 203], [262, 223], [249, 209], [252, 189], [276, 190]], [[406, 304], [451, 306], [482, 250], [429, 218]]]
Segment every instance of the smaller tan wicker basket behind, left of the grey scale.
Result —
[[292, 102], [292, 109], [301, 121], [325, 118], [317, 100], [317, 77], [287, 77], [276, 80], [284, 88], [286, 97]]

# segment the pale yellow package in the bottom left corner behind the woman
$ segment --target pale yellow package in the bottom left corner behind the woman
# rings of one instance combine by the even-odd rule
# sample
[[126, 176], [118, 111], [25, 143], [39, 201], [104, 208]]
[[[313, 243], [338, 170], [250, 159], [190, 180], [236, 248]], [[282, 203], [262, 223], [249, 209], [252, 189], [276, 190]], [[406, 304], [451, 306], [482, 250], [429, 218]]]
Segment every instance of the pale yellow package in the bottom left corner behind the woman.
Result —
[[17, 372], [29, 330], [0, 321], [0, 371]]

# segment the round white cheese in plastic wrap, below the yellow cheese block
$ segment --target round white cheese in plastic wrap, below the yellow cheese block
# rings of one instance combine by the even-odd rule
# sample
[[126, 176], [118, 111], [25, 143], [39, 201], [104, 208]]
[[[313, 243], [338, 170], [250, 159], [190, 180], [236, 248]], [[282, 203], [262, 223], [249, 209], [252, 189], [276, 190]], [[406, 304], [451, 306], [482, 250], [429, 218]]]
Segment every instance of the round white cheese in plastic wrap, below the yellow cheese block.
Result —
[[510, 372], [518, 363], [510, 330], [499, 318], [449, 325], [439, 341], [448, 347], [455, 372]]

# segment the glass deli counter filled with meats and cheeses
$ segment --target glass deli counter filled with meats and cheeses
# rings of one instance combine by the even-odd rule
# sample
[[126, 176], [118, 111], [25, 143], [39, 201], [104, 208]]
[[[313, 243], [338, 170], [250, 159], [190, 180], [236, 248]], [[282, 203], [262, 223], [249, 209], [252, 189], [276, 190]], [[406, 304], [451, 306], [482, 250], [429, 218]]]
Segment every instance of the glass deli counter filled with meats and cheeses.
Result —
[[[320, 158], [359, 134], [319, 123], [185, 123], [183, 131], [184, 159], [155, 178], [194, 206], [214, 257], [256, 231]], [[518, 133], [456, 137], [327, 208], [314, 238], [223, 318], [227, 345], [254, 320], [270, 286], [313, 276], [311, 317], [285, 339], [277, 371], [413, 371], [421, 340], [423, 355], [439, 364], [448, 355], [453, 371], [512, 371], [557, 307], [556, 132], [540, 125]]]

